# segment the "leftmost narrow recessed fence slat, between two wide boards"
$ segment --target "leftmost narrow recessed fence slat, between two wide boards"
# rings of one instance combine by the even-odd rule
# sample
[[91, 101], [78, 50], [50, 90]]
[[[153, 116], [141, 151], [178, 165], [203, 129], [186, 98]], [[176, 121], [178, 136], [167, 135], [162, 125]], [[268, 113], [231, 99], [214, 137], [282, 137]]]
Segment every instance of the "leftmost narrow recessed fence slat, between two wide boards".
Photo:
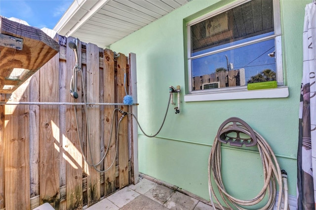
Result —
[[[40, 100], [40, 71], [30, 81], [30, 101]], [[40, 194], [40, 106], [30, 105], [30, 196]]]

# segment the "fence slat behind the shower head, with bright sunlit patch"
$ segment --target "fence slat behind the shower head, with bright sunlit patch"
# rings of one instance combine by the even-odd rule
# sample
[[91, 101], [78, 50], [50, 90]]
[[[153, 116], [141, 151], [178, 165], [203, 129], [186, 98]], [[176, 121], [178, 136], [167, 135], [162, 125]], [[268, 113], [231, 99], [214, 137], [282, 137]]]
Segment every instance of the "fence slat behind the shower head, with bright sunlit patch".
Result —
[[[74, 38], [68, 37], [67, 43]], [[73, 68], [75, 66], [74, 51], [67, 47], [66, 61], [66, 88], [70, 87]], [[69, 90], [69, 89], [68, 89]], [[79, 94], [78, 101], [81, 100]], [[70, 94], [66, 94], [66, 101], [73, 102]], [[80, 113], [80, 111], [78, 111]], [[81, 122], [81, 115], [78, 115], [78, 121]], [[80, 127], [80, 126], [79, 126]], [[82, 209], [82, 155], [77, 134], [76, 118], [73, 106], [66, 107], [66, 133], [64, 133], [63, 148], [64, 158], [66, 159], [66, 187], [67, 187], [67, 210]]]

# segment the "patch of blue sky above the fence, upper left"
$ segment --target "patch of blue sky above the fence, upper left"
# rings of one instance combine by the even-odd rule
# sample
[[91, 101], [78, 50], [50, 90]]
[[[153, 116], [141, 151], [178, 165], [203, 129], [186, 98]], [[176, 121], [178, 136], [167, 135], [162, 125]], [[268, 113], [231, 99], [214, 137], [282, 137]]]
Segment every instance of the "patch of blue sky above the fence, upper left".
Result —
[[0, 15], [53, 29], [74, 0], [0, 0]]

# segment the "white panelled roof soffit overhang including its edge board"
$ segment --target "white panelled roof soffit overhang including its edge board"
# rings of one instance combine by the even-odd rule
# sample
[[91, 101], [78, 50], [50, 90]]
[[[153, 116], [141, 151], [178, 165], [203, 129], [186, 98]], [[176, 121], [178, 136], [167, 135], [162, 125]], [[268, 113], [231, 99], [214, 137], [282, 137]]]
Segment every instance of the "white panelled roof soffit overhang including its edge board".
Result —
[[74, 0], [54, 30], [105, 48], [190, 0]]

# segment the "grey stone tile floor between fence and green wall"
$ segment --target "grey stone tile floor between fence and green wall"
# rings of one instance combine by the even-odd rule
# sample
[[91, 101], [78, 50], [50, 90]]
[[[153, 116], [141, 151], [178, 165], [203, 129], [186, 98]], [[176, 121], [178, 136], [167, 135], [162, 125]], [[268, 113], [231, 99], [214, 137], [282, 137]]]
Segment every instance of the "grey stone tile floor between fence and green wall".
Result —
[[141, 178], [86, 210], [213, 210], [181, 192]]

